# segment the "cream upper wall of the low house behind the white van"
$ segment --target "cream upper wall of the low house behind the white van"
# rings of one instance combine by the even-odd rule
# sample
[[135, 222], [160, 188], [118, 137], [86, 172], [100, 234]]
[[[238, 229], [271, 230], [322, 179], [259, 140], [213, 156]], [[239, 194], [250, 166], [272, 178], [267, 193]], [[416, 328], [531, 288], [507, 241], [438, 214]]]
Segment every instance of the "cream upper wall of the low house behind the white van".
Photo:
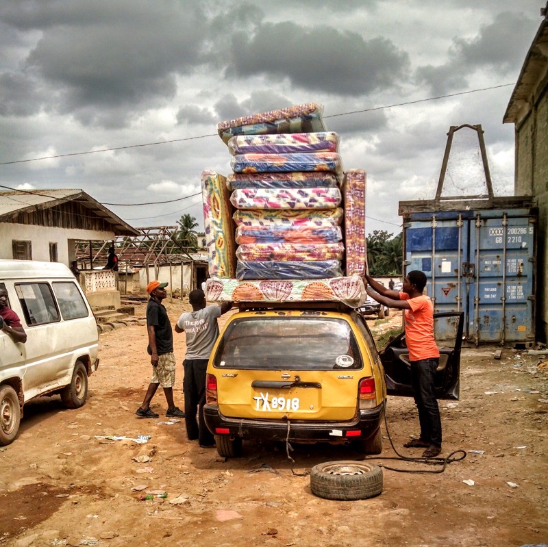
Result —
[[[112, 240], [112, 231], [91, 231], [0, 222], [0, 258], [13, 259], [13, 240], [32, 242], [32, 259], [49, 262], [49, 243], [57, 243], [58, 261], [70, 266], [74, 240]], [[70, 244], [69, 244], [70, 242]]]

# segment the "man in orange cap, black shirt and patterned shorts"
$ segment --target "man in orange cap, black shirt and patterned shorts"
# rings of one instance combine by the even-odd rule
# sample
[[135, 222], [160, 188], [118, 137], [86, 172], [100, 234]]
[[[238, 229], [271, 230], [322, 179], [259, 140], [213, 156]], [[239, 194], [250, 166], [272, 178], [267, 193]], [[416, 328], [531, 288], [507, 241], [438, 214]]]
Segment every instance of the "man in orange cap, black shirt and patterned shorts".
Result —
[[166, 416], [171, 418], [184, 418], [184, 412], [175, 406], [173, 402], [173, 385], [175, 385], [175, 355], [173, 355], [173, 331], [167, 316], [167, 311], [162, 300], [166, 298], [167, 283], [151, 281], [147, 285], [147, 292], [150, 294], [147, 305], [147, 333], [149, 335], [149, 346], [147, 352], [151, 356], [152, 379], [145, 394], [145, 400], [137, 409], [136, 415], [139, 418], [158, 418], [150, 407], [151, 400], [162, 384], [168, 409]]

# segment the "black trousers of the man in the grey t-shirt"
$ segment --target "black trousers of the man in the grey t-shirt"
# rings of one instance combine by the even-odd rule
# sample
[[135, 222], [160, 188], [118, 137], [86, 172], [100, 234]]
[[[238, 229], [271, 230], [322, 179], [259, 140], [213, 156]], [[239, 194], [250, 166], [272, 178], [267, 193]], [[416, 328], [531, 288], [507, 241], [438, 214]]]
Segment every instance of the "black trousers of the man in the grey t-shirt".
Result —
[[[206, 404], [206, 369], [208, 359], [185, 359], [184, 367], [184, 414], [188, 439], [197, 439], [199, 444], [214, 444], [214, 437], [203, 419]], [[196, 420], [198, 414], [198, 420]]]

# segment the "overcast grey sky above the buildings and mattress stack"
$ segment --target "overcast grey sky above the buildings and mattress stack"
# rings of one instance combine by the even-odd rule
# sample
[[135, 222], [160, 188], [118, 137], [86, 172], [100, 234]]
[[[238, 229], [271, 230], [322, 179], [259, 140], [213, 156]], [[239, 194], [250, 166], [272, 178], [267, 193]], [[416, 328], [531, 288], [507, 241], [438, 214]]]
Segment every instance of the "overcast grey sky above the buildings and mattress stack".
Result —
[[[367, 172], [366, 231], [399, 233], [398, 202], [434, 197], [451, 125], [482, 124], [495, 195], [512, 194], [513, 86], [379, 107], [514, 84], [544, 5], [2, 0], [0, 162], [178, 142], [3, 164], [0, 185], [82, 188], [101, 203], [192, 196], [202, 170], [230, 173], [217, 123], [314, 102], [345, 170]], [[459, 133], [445, 193], [480, 193], [477, 138]], [[186, 213], [203, 227], [200, 196], [108, 207], [134, 227]]]

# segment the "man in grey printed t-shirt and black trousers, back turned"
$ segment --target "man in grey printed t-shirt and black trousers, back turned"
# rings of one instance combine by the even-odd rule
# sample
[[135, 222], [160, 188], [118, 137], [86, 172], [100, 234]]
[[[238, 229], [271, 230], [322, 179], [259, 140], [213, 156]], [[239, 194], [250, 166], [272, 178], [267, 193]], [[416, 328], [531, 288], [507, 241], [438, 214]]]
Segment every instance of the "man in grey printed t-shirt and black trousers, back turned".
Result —
[[[225, 314], [232, 302], [206, 305], [203, 290], [190, 291], [188, 302], [192, 311], [182, 314], [175, 325], [175, 332], [186, 334], [184, 367], [184, 412], [188, 440], [198, 440], [202, 448], [213, 448], [215, 440], [203, 419], [206, 404], [206, 370], [213, 346], [219, 336], [217, 318]], [[196, 412], [198, 411], [198, 421]]]

